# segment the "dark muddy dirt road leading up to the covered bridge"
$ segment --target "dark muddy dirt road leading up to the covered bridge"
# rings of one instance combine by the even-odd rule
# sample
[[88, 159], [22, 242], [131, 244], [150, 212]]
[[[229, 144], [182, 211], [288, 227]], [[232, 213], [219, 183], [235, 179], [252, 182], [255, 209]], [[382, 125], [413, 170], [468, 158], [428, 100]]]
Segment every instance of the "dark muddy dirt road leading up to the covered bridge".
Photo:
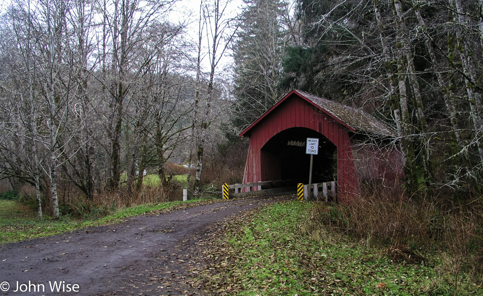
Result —
[[[7, 295], [200, 295], [200, 248], [239, 212], [280, 198], [251, 198], [0, 245], [0, 293]], [[211, 235], [204, 235], [206, 231]], [[209, 239], [207, 239], [209, 238]], [[203, 240], [206, 240], [203, 243]], [[200, 243], [201, 242], [201, 243]]]

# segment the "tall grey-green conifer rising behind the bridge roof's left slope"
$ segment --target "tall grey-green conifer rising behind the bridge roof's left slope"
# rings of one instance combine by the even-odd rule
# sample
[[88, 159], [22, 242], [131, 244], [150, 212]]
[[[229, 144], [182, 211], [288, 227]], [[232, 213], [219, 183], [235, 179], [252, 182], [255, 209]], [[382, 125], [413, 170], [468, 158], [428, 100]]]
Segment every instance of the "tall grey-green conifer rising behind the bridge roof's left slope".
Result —
[[234, 45], [236, 103], [232, 125], [244, 128], [270, 108], [281, 95], [283, 49], [287, 42], [280, 0], [249, 0]]

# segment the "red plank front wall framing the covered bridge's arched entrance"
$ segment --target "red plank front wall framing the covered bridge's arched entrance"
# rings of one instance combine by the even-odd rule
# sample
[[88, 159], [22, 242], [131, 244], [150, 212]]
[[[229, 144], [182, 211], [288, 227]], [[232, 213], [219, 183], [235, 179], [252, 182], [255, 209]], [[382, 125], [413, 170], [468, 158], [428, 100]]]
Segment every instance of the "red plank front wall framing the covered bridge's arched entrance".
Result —
[[292, 94], [277, 108], [271, 109], [250, 129], [250, 147], [244, 183], [280, 179], [281, 164], [262, 147], [276, 134], [293, 127], [308, 128], [321, 133], [337, 147], [338, 189], [341, 196], [358, 191], [358, 180], [347, 128], [335, 122], [317, 107]]

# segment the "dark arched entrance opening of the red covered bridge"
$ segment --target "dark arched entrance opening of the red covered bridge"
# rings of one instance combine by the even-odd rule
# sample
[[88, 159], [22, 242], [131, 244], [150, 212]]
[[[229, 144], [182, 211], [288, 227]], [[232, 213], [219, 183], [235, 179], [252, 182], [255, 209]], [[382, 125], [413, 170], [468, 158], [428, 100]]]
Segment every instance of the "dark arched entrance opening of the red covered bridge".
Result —
[[312, 183], [337, 179], [337, 147], [321, 133], [307, 128], [290, 128], [272, 137], [261, 149], [262, 181], [292, 180], [309, 183], [310, 155], [307, 138], [319, 139], [319, 154], [314, 155]]

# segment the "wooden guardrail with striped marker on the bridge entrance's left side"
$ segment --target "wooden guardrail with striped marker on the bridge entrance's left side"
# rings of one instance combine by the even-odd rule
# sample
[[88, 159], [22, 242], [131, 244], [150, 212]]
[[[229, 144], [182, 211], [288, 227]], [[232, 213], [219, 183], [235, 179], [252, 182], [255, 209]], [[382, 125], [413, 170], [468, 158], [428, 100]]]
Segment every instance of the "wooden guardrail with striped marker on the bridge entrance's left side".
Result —
[[[279, 180], [279, 181], [264, 181], [256, 183], [246, 183], [246, 184], [225, 184], [223, 186], [223, 198], [237, 198], [237, 197], [248, 197], [256, 195], [265, 194], [277, 194], [277, 193], [289, 193], [295, 192], [295, 186], [281, 187], [291, 182], [290, 180]], [[246, 192], [242, 188], [247, 188]], [[234, 193], [230, 193], [229, 190], [234, 190]]]

